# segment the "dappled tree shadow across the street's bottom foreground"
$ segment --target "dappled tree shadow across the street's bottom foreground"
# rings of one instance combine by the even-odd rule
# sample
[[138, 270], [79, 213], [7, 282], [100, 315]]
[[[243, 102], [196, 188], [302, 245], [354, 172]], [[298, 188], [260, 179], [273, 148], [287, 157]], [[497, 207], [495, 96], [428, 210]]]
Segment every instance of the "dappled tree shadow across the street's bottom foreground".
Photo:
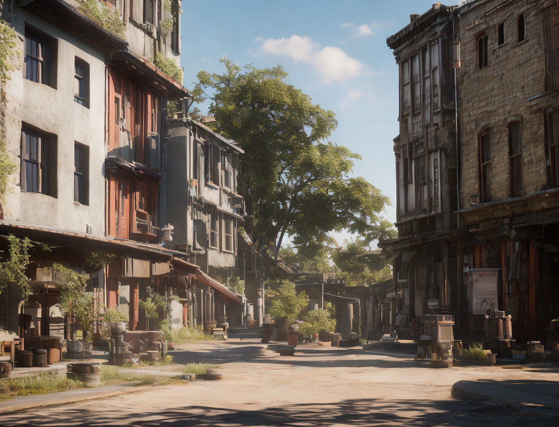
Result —
[[382, 399], [350, 399], [335, 403], [290, 404], [257, 410], [218, 406], [188, 406], [168, 410], [144, 409], [110, 411], [103, 407], [60, 408], [54, 417], [37, 418], [32, 412], [6, 417], [2, 425], [134, 425], [134, 426], [456, 426], [479, 425], [558, 425], [556, 414], [523, 412], [505, 406], [480, 402]]

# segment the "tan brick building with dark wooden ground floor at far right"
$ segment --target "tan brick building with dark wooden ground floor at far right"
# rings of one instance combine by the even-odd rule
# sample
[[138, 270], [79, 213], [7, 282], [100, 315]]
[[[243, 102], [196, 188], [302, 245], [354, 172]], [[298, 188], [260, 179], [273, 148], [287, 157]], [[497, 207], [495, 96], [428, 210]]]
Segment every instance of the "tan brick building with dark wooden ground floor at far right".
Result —
[[559, 317], [559, 9], [475, 0], [458, 13], [460, 330], [475, 336], [494, 306], [519, 343], [543, 340]]

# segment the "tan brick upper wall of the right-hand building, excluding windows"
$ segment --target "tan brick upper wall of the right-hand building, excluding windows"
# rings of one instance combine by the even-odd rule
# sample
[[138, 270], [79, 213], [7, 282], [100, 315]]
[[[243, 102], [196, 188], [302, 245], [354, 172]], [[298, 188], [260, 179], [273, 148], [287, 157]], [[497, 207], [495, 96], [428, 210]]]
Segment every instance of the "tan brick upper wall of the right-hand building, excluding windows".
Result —
[[[546, 49], [544, 8], [555, 1], [478, 1], [462, 7], [459, 23], [461, 68], [458, 69], [461, 133], [460, 205], [480, 194], [478, 137], [490, 130], [491, 200], [510, 197], [509, 124], [520, 121], [522, 195], [548, 187], [544, 112], [559, 105], [557, 91], [545, 92]], [[527, 37], [517, 41], [517, 20], [523, 13]], [[505, 41], [498, 46], [498, 25]], [[488, 65], [479, 68], [477, 37], [488, 36]], [[539, 96], [538, 96], [539, 95]], [[530, 98], [536, 99], [529, 100]]]

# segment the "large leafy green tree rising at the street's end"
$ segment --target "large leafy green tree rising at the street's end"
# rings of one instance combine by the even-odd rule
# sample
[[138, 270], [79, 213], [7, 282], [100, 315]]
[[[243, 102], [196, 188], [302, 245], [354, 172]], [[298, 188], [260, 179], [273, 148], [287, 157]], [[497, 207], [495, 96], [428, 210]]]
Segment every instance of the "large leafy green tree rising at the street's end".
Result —
[[222, 63], [222, 74], [198, 73], [193, 93], [196, 102], [210, 99], [216, 131], [245, 151], [238, 188], [254, 215], [253, 241], [272, 247], [277, 259], [286, 235], [309, 255], [333, 230], [347, 229], [366, 242], [392, 236], [390, 222], [379, 215], [389, 198], [350, 176], [359, 155], [328, 141], [338, 124], [334, 113], [287, 84], [281, 66]]

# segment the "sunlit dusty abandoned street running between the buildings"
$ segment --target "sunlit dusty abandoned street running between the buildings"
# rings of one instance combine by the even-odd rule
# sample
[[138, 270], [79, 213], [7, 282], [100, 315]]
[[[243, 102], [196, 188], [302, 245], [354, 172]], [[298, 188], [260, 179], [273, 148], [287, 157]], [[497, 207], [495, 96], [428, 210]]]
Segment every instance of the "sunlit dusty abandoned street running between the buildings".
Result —
[[[252, 337], [187, 344], [177, 363], [219, 363], [221, 381], [154, 386], [148, 391], [4, 415], [2, 425], [559, 425], [545, 407], [455, 400], [457, 381], [557, 381], [559, 370], [453, 367], [430, 370], [410, 354], [299, 346], [278, 356]], [[159, 367], [173, 370], [173, 365]]]

